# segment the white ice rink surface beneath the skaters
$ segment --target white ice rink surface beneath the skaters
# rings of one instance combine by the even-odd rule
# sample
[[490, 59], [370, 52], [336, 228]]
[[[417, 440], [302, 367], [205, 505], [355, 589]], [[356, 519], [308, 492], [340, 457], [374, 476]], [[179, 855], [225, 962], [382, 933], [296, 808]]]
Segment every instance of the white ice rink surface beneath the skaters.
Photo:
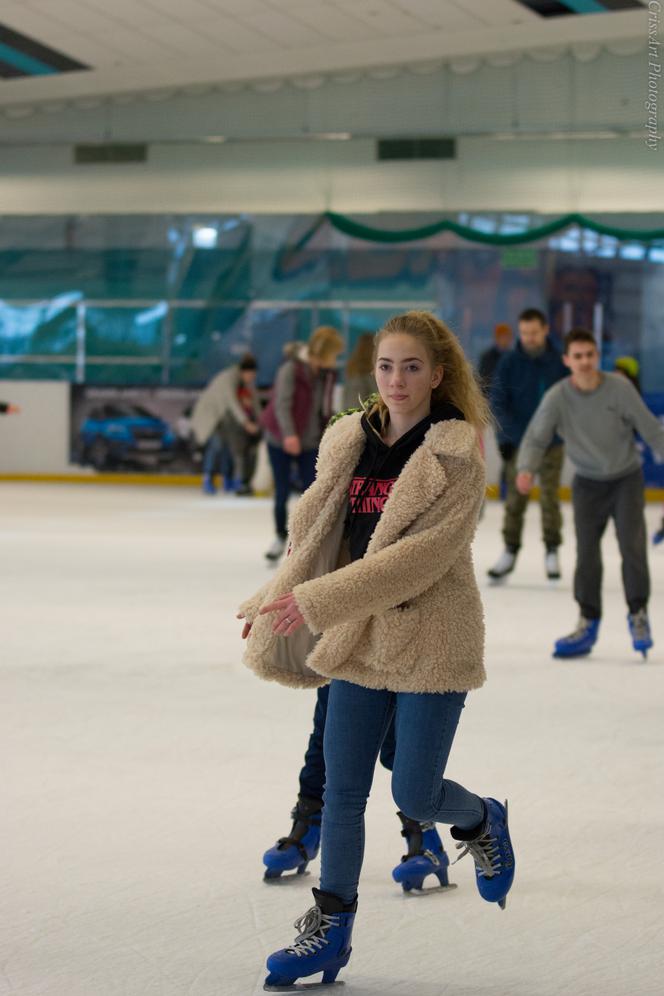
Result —
[[[290, 827], [314, 706], [240, 660], [234, 611], [266, 577], [269, 503], [4, 484], [0, 507], [0, 993], [260, 991], [318, 866], [261, 879]], [[479, 898], [470, 858], [451, 870], [457, 890], [401, 893], [378, 769], [347, 996], [664, 992], [664, 546], [650, 548], [648, 662], [628, 639], [612, 528], [599, 643], [554, 661], [576, 621], [564, 515], [557, 586], [536, 508], [503, 587], [485, 582], [496, 503], [475, 547], [489, 681], [469, 696], [448, 774], [509, 798], [507, 910]], [[650, 532], [659, 515], [648, 509]]]

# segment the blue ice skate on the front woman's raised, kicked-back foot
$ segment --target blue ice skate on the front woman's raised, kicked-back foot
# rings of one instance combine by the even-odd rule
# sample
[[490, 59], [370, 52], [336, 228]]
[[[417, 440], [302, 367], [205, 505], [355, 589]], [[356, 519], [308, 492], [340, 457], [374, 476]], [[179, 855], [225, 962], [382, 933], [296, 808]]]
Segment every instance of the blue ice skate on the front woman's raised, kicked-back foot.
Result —
[[[486, 819], [479, 830], [461, 830], [451, 827], [450, 833], [462, 848], [460, 861], [471, 854], [475, 862], [477, 888], [482, 899], [498, 903], [502, 910], [507, 904], [507, 893], [514, 881], [514, 851], [507, 825], [507, 802], [484, 799]], [[456, 862], [455, 862], [456, 863]]]

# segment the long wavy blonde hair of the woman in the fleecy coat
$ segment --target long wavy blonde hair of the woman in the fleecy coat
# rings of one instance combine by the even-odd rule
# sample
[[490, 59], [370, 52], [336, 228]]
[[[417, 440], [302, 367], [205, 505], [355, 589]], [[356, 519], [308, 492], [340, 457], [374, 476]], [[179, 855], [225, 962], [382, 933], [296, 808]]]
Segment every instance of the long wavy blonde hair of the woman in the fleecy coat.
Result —
[[[431, 392], [431, 406], [448, 401], [463, 412], [469, 425], [481, 431], [491, 423], [491, 414], [475, 372], [466, 359], [461, 343], [445, 322], [429, 311], [406, 311], [395, 315], [383, 325], [374, 337], [373, 362], [378, 358], [378, 347], [388, 335], [410, 335], [421, 342], [434, 367], [442, 366], [443, 379]], [[381, 427], [389, 423], [389, 411], [382, 398], [367, 409], [369, 415], [379, 413]]]

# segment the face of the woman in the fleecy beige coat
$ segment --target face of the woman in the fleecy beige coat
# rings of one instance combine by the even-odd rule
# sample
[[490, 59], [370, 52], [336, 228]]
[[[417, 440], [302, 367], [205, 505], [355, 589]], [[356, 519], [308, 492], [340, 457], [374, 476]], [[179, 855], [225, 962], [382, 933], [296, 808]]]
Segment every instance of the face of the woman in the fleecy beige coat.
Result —
[[443, 379], [443, 368], [432, 365], [418, 339], [394, 333], [386, 335], [378, 346], [375, 377], [391, 415], [424, 418], [431, 407], [431, 392]]

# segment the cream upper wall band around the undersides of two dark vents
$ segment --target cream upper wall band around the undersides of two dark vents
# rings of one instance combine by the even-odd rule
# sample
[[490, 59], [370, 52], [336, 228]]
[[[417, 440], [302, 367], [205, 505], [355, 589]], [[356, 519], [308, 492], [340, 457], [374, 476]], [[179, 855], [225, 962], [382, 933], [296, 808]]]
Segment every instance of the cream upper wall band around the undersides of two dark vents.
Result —
[[[0, 214], [664, 210], [661, 156], [637, 139], [458, 141], [454, 161], [376, 162], [374, 143], [155, 145], [139, 165], [5, 150]], [[644, 220], [647, 227], [648, 221]]]

